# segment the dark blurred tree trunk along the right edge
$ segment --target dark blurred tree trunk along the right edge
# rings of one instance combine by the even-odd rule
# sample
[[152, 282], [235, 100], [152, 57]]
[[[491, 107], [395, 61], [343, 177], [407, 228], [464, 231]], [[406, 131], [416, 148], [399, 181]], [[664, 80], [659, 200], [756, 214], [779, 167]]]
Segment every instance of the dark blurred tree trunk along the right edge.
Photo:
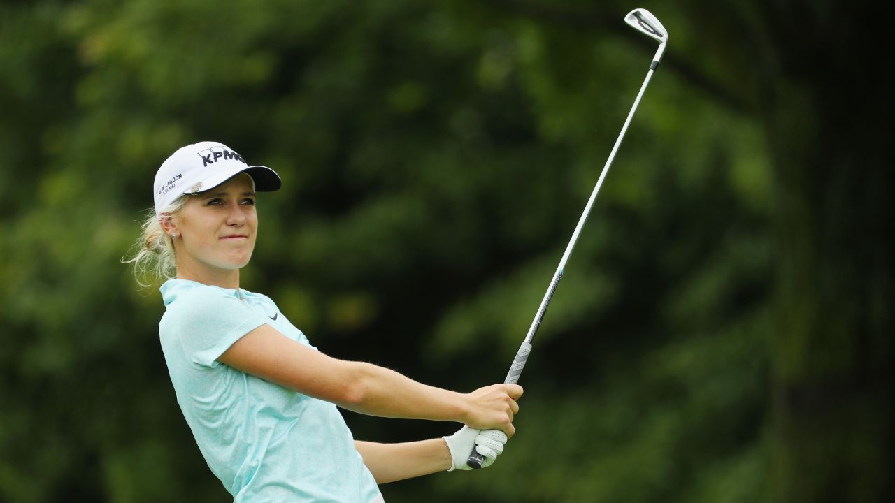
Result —
[[763, 104], [779, 236], [773, 488], [794, 503], [888, 500], [888, 26], [854, 3], [784, 4], [764, 16], [778, 58]]

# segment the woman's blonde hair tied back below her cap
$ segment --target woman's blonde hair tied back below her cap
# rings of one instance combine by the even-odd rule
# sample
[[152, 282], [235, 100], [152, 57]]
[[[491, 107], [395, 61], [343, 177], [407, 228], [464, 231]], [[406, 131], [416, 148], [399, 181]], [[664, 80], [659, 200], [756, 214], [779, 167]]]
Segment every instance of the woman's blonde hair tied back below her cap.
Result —
[[133, 277], [138, 285], [146, 288], [159, 280], [175, 277], [177, 259], [174, 243], [162, 228], [161, 221], [163, 218], [174, 217], [183, 209], [188, 199], [189, 196], [184, 194], [163, 213], [149, 209], [142, 225], [143, 234], [133, 243], [132, 250], [136, 250], [136, 254], [130, 259], [121, 260], [124, 264], [133, 264]]

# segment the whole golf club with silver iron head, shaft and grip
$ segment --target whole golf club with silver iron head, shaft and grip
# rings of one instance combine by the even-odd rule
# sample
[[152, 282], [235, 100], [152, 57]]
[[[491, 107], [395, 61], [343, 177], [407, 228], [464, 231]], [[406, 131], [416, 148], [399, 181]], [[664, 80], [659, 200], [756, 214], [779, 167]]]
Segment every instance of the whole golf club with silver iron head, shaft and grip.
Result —
[[[547, 293], [544, 294], [544, 298], [541, 301], [541, 307], [538, 308], [538, 312], [534, 315], [532, 326], [528, 329], [528, 334], [525, 336], [522, 345], [519, 346], [519, 351], [516, 353], [516, 358], [513, 360], [513, 364], [510, 366], [509, 372], [507, 373], [507, 379], [504, 380], [505, 384], [516, 384], [516, 381], [519, 380], [519, 376], [522, 374], [522, 370], [525, 366], [525, 361], [528, 359], [528, 354], [532, 351], [532, 342], [534, 340], [534, 335], [537, 333], [538, 328], [541, 327], [541, 320], [543, 320], [544, 318], [544, 313], [547, 312], [547, 306], [550, 305], [550, 300], [553, 298], [553, 293], [556, 292], [559, 280], [562, 279], [563, 271], [566, 268], [566, 262], [569, 256], [572, 254], [572, 250], [575, 248], [575, 243], [578, 241], [578, 234], [581, 234], [581, 229], [582, 227], [584, 227], [584, 222], [587, 220], [587, 216], [591, 213], [593, 201], [597, 199], [597, 192], [600, 192], [600, 186], [603, 183], [603, 179], [606, 178], [606, 174], [609, 172], [609, 166], [611, 166], [612, 164], [612, 159], [615, 158], [616, 152], [618, 151], [618, 146], [621, 144], [622, 139], [625, 137], [627, 126], [628, 124], [631, 124], [631, 118], [634, 117], [637, 105], [640, 104], [640, 98], [643, 98], [646, 86], [650, 83], [652, 73], [655, 71], [656, 67], [659, 66], [659, 61], [661, 60], [662, 54], [665, 52], [665, 45], [668, 43], [669, 40], [668, 32], [665, 30], [665, 27], [663, 27], [661, 22], [659, 22], [659, 20], [656, 19], [656, 17], [653, 16], [652, 13], [649, 13], [649, 11], [647, 11], [646, 9], [635, 9], [631, 11], [625, 16], [625, 22], [633, 26], [635, 30], [638, 30], [641, 33], [646, 34], [647, 36], [658, 40], [659, 49], [656, 51], [656, 55], [652, 57], [650, 70], [646, 73], [646, 79], [644, 80], [644, 84], [640, 87], [640, 92], [637, 93], [637, 98], [634, 100], [634, 106], [631, 107], [631, 111], [628, 113], [627, 119], [625, 120], [625, 125], [622, 126], [621, 132], [618, 133], [618, 139], [615, 142], [615, 146], [612, 147], [612, 151], [609, 153], [609, 159], [607, 159], [606, 161], [606, 166], [603, 166], [603, 171], [600, 174], [600, 179], [597, 180], [597, 185], [593, 188], [591, 199], [587, 201], [587, 206], [584, 207], [584, 213], [581, 215], [581, 219], [578, 220], [578, 226], [575, 227], [575, 232], [572, 234], [572, 239], [568, 242], [566, 252], [563, 253], [562, 260], [559, 260], [559, 267], [557, 268], [556, 273], [554, 273], [553, 279], [550, 280], [550, 286], [547, 288]], [[466, 461], [466, 464], [469, 465], [471, 468], [477, 470], [479, 468], [482, 468], [483, 460], [484, 457], [479, 454], [473, 447], [473, 452], [470, 454], [469, 459]]]

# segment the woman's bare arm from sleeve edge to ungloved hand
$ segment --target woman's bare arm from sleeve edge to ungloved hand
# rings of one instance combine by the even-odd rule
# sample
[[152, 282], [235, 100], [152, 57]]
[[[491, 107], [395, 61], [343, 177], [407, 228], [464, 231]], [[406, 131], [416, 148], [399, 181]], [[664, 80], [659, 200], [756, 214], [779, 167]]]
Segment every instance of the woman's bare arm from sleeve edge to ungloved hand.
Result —
[[345, 409], [369, 415], [463, 422], [512, 436], [522, 388], [495, 384], [472, 393], [426, 386], [396, 371], [338, 360], [284, 336], [255, 328], [217, 358], [218, 362]]

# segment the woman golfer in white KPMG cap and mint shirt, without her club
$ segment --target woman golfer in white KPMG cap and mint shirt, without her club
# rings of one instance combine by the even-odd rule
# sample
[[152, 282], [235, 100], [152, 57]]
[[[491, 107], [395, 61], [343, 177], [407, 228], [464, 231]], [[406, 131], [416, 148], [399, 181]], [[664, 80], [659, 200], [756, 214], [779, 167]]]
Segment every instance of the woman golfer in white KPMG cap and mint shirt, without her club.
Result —
[[[267, 296], [239, 287], [258, 235], [255, 192], [279, 176], [225, 145], [178, 149], [158, 169], [155, 211], [129, 262], [161, 286], [158, 334], [177, 403], [211, 471], [236, 502], [383, 501], [378, 483], [484, 466], [514, 432], [522, 388], [432, 388], [317, 351]], [[354, 440], [337, 405], [371, 415], [454, 421], [443, 439]], [[497, 431], [482, 431], [495, 429]], [[506, 434], [505, 434], [506, 433]]]

